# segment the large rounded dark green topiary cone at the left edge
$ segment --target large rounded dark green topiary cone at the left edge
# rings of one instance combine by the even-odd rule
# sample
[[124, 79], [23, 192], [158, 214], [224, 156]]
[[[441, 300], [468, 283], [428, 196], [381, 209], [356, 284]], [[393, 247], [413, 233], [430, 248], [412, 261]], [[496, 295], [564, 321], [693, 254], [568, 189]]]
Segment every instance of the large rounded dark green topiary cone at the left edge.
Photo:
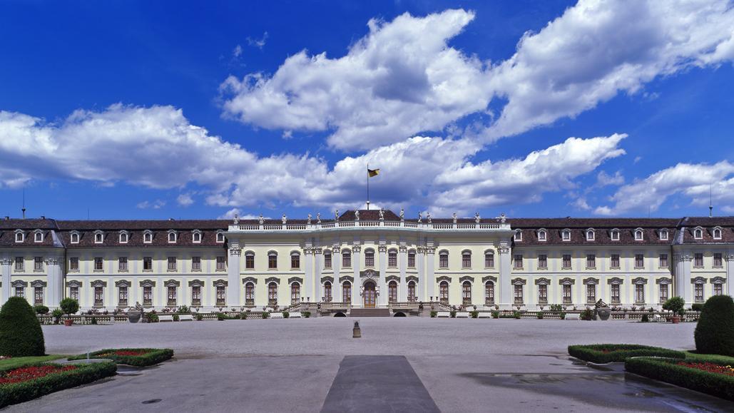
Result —
[[43, 330], [31, 304], [22, 297], [10, 297], [0, 310], [0, 355], [43, 356]]

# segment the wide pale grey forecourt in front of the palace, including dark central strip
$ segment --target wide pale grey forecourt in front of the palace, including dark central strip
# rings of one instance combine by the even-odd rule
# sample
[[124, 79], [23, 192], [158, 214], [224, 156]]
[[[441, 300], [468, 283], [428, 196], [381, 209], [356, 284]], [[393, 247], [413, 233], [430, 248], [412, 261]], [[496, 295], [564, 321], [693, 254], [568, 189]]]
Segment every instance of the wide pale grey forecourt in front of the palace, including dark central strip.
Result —
[[694, 324], [363, 319], [44, 326], [48, 352], [167, 346], [156, 368], [57, 392], [12, 412], [725, 411], [730, 403], [589, 368], [572, 343], [693, 347]]

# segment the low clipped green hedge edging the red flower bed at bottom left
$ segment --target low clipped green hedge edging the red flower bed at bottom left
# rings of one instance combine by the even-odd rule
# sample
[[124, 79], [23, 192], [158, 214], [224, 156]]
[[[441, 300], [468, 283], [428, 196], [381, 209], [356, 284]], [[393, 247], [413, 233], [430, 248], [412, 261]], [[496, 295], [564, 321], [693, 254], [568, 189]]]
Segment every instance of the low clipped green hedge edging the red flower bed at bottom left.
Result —
[[[52, 363], [31, 363], [21, 367], [52, 365]], [[9, 370], [19, 368], [0, 369], [0, 374]], [[4, 384], [0, 386], [0, 408], [11, 404], [23, 403], [24, 401], [40, 398], [59, 390], [70, 389], [81, 384], [91, 383], [105, 377], [115, 376], [117, 366], [115, 363], [94, 363], [90, 365], [76, 365], [74, 370], [51, 373], [22, 383]]]

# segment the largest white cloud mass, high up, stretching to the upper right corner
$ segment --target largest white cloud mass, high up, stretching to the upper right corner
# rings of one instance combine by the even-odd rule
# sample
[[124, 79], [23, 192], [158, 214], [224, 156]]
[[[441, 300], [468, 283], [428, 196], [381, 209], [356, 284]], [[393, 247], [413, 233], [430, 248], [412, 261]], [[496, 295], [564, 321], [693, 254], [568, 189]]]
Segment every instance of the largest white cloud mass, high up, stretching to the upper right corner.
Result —
[[[373, 19], [345, 56], [300, 51], [272, 76], [230, 76], [225, 114], [264, 128], [330, 131], [331, 147], [366, 150], [476, 113], [490, 123], [468, 133], [490, 142], [734, 56], [727, 0], [581, 0], [493, 67], [448, 45], [473, 18], [446, 10]], [[496, 118], [487, 107], [495, 98], [504, 103]]]

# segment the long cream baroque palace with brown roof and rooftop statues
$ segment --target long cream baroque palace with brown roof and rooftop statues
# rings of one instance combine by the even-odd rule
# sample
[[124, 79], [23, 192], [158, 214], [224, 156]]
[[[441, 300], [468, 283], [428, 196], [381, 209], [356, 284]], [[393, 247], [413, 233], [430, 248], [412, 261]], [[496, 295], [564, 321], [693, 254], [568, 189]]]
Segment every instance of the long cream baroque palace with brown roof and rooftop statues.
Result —
[[660, 307], [733, 295], [734, 217], [0, 221], [0, 301], [57, 307]]

